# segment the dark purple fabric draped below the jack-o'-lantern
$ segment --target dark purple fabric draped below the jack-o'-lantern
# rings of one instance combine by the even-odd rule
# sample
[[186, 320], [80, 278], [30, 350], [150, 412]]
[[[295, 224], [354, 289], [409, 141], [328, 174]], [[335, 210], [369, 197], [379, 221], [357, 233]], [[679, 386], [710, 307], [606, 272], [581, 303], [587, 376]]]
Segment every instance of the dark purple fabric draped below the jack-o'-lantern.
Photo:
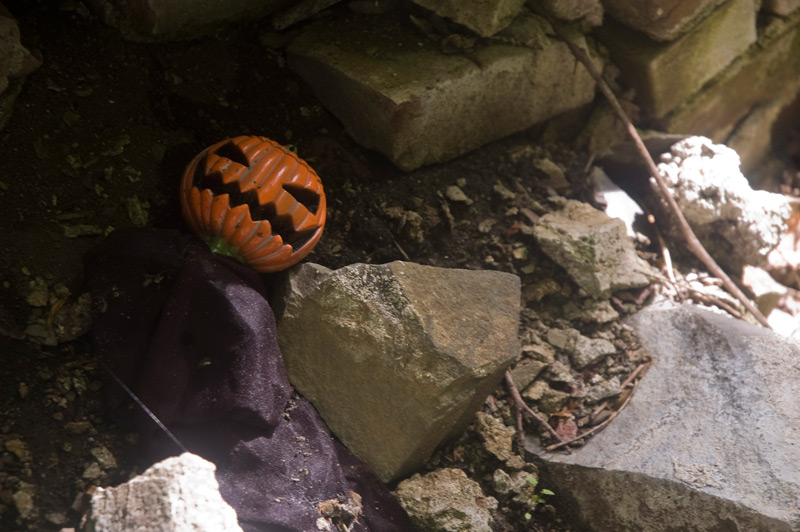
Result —
[[[214, 462], [247, 531], [318, 530], [317, 505], [362, 497], [358, 532], [405, 532], [405, 512], [336, 442], [286, 377], [258, 274], [175, 231], [116, 231], [84, 261], [98, 355], [190, 451]], [[180, 450], [114, 382], [115, 417], [151, 460]]]

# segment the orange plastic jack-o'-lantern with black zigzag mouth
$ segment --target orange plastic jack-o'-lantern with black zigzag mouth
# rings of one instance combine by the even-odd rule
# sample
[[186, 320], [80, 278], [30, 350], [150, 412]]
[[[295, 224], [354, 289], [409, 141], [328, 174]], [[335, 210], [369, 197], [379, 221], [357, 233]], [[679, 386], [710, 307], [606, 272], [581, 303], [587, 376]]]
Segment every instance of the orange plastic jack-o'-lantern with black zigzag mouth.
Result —
[[181, 181], [181, 210], [213, 251], [276, 272], [319, 242], [325, 193], [296, 154], [265, 137], [242, 136], [195, 157]]

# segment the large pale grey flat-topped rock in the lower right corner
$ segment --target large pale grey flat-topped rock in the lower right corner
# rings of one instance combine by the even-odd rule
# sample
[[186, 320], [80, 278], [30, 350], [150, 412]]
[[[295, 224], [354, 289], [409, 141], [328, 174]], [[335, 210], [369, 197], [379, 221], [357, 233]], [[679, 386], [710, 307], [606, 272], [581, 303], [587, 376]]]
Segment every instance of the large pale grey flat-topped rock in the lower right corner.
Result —
[[542, 453], [559, 515], [589, 532], [797, 530], [800, 344], [690, 305], [631, 324], [653, 364], [628, 407], [572, 454]]

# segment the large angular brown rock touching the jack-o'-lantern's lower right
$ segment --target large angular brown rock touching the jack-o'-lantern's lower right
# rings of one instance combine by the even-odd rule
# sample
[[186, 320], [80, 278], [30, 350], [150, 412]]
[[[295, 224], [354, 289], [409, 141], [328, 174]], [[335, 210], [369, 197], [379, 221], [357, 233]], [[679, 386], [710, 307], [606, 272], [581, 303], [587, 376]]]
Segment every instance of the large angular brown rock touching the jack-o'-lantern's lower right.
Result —
[[384, 481], [458, 435], [519, 353], [519, 278], [407, 262], [290, 274], [289, 379]]

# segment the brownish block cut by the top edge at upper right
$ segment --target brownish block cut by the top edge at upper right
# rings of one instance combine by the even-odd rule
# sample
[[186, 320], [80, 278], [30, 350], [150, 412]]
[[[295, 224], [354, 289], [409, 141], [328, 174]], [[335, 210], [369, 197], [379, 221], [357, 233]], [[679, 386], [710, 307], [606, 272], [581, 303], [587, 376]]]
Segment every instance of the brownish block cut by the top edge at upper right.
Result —
[[728, 0], [603, 0], [606, 14], [656, 41], [672, 41]]

